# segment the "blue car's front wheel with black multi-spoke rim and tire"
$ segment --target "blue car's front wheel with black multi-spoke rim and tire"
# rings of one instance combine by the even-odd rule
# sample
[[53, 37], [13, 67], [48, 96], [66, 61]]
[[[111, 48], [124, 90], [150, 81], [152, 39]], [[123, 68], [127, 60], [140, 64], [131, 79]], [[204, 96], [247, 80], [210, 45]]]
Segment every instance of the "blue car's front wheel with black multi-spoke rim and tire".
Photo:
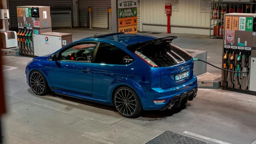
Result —
[[41, 73], [38, 70], [34, 70], [30, 74], [29, 84], [30, 84], [30, 87], [32, 88], [32, 91], [36, 95], [40, 95], [40, 96], [48, 95], [50, 92], [49, 85], [48, 85], [43, 73]]

